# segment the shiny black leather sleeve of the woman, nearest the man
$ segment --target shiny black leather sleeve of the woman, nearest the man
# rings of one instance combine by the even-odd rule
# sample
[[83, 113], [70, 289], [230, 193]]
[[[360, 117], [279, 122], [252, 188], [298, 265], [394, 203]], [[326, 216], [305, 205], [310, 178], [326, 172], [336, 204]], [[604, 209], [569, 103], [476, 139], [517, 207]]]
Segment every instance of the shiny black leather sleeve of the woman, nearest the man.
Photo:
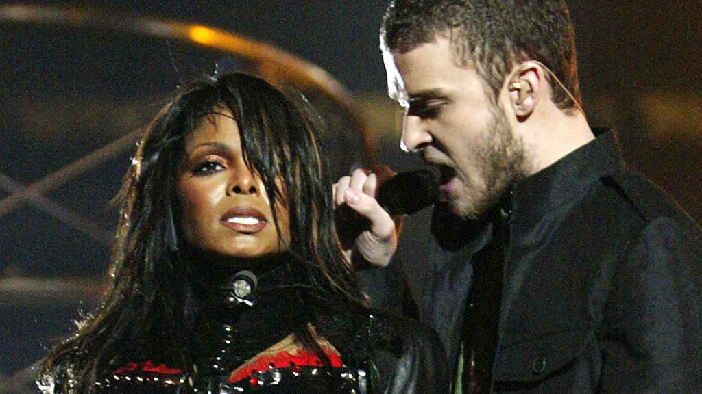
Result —
[[406, 341], [384, 393], [449, 393], [447, 375], [444, 348], [439, 337], [429, 330], [418, 330]]

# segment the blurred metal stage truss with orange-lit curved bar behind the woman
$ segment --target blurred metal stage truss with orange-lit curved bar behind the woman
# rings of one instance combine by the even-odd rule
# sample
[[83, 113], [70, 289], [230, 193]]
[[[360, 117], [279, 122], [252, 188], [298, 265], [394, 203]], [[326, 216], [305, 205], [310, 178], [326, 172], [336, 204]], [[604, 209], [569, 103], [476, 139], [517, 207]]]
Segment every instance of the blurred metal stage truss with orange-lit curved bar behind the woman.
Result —
[[[345, 170], [347, 170], [350, 164], [375, 161], [375, 137], [359, 114], [354, 98], [348, 90], [317, 65], [262, 41], [216, 27], [176, 20], [117, 15], [82, 8], [21, 4], [0, 6], [0, 28], [58, 29], [61, 32], [84, 36], [102, 34], [134, 39], [163, 39], [168, 43], [173, 41], [180, 45], [194, 46], [201, 50], [236, 57], [246, 62], [248, 67], [246, 71], [259, 74], [273, 83], [293, 86], [303, 91], [311, 97], [310, 101], [313, 104], [321, 103], [319, 107], [323, 117], [329, 115], [336, 118], [331, 120], [331, 123], [343, 124], [340, 130], [335, 131], [336, 135], [329, 136], [331, 144], [336, 143], [334, 147], [336, 151], [332, 151], [331, 155], [333, 156], [332, 166], [336, 165], [343, 171], [343, 168], [346, 166]], [[71, 48], [65, 50], [71, 50]], [[6, 55], [12, 56], [11, 53]], [[0, 219], [18, 210], [27, 209], [29, 206], [32, 210], [60, 222], [62, 231], [80, 233], [95, 247], [109, 248], [112, 242], [111, 229], [106, 228], [105, 224], [96, 222], [89, 213], [86, 213], [86, 210], [72, 208], [66, 206], [65, 202], [57, 201], [51, 193], [55, 193], [69, 182], [80, 181], [81, 177], [85, 177], [88, 172], [100, 168], [108, 161], [131, 154], [135, 142], [140, 137], [140, 131], [139, 128], [133, 128], [116, 139], [102, 144], [98, 149], [83, 154], [72, 162], [60, 165], [58, 169], [53, 168], [40, 179], [29, 182], [13, 176], [8, 168], [2, 168], [0, 170], [0, 191], [2, 192]], [[357, 149], [357, 154], [353, 154], [352, 149], [349, 148], [354, 144], [353, 141], [357, 142], [355, 145], [361, 147]], [[338, 144], [347, 144], [349, 147]], [[3, 153], [0, 153], [0, 156], [7, 154], [4, 148], [1, 151]], [[337, 163], [334, 163], [335, 160]], [[114, 180], [119, 182], [119, 176]], [[7, 234], [14, 229], [4, 228], [1, 231]], [[41, 247], [41, 245], [34, 242], [34, 247]], [[2, 263], [0, 261], [0, 264]], [[103, 263], [107, 264], [107, 261]], [[70, 308], [74, 315], [79, 300], [94, 300], [97, 297], [101, 283], [99, 276], [95, 275], [88, 278], [79, 276], [66, 278], [55, 275], [41, 277], [25, 275], [21, 272], [15, 274], [12, 269], [0, 265], [0, 300], [4, 304], [4, 309], [0, 312], [14, 314], [20, 306], [27, 305], [32, 307], [39, 305], [51, 311], [51, 308], [63, 305]], [[36, 322], [36, 324], [42, 324], [42, 322]], [[55, 330], [53, 334], [56, 332]], [[65, 332], [65, 330], [58, 332]], [[8, 336], [12, 334], [13, 332], [5, 333]], [[8, 339], [8, 341], [11, 340], [12, 338]], [[42, 344], [44, 343], [42, 341]], [[4, 342], [0, 344], [0, 348], [3, 344]], [[7, 352], [4, 353], [7, 354]], [[25, 362], [24, 366], [28, 364]], [[13, 392], [19, 392], [20, 386], [17, 386], [15, 381], [20, 376], [30, 375], [27, 370], [18, 372], [16, 369], [11, 374], [17, 379], [13, 379], [13, 376], [8, 377], [7, 374], [8, 372], [0, 372], [0, 393], [4, 393], [3, 390], [8, 387], [13, 387]]]

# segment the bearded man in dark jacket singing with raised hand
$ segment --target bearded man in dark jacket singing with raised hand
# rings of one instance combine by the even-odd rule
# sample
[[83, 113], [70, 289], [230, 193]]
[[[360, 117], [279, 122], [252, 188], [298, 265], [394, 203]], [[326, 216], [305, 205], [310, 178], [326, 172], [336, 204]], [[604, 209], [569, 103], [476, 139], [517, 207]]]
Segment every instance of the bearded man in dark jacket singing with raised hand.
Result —
[[[453, 392], [702, 393], [702, 231], [590, 129], [563, 1], [395, 0], [380, 38], [402, 147], [439, 173], [399, 255]], [[376, 183], [335, 203], [369, 219], [352, 257], [385, 264]]]

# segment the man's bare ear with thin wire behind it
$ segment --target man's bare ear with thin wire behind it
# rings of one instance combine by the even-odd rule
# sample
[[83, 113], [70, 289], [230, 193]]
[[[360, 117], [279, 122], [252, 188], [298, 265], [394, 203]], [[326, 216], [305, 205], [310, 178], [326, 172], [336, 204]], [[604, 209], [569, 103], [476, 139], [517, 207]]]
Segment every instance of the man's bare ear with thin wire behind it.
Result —
[[507, 85], [510, 104], [518, 118], [526, 118], [534, 109], [543, 91], [543, 69], [536, 62], [524, 62], [513, 73]]

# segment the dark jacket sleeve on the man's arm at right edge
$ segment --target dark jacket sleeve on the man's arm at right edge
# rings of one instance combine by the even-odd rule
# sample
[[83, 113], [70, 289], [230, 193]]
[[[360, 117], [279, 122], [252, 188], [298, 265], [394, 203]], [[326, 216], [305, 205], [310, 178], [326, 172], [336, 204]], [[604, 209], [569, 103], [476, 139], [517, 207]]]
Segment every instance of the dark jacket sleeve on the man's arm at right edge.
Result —
[[698, 229], [644, 225], [604, 308], [602, 393], [702, 393], [702, 252]]

